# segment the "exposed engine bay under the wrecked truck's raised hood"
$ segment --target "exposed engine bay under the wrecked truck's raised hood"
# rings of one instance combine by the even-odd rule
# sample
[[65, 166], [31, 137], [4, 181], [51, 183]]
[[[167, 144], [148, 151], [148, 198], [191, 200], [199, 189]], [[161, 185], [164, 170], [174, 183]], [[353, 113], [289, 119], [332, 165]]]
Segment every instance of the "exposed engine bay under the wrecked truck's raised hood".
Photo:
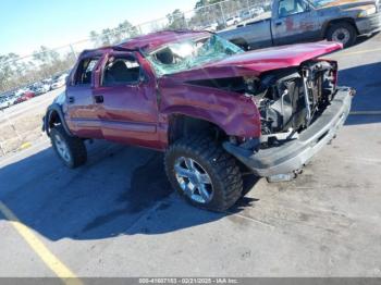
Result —
[[[298, 67], [268, 72], [260, 77], [198, 80], [250, 97], [261, 120], [261, 142], [297, 136], [330, 104], [336, 87], [337, 65], [309, 61]], [[195, 84], [195, 82], [193, 82]]]

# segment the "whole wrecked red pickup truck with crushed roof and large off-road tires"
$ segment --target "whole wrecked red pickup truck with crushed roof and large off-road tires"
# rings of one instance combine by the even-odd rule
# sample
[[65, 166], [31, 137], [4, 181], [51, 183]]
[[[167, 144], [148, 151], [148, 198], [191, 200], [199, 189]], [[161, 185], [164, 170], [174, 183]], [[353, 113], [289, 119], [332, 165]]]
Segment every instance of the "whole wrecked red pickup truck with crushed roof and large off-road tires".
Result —
[[164, 151], [183, 197], [225, 210], [242, 195], [242, 170], [294, 177], [344, 124], [355, 91], [319, 59], [341, 48], [245, 52], [214, 34], [161, 32], [86, 50], [44, 129], [70, 168], [85, 163], [89, 138]]

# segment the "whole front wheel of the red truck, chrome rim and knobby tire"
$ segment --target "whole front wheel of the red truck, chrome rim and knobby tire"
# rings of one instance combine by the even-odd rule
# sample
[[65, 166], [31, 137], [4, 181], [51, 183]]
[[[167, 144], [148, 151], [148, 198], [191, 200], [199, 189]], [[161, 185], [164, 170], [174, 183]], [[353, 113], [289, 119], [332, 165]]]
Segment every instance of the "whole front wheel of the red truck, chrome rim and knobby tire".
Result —
[[172, 187], [193, 206], [225, 211], [241, 198], [243, 181], [235, 159], [208, 137], [174, 142], [164, 164]]

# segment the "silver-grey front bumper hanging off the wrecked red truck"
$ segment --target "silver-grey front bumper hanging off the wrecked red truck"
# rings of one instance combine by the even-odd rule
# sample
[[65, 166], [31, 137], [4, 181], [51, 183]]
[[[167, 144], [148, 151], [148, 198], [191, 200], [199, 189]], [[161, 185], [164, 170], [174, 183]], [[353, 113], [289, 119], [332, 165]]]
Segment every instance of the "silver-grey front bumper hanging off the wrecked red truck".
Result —
[[231, 142], [224, 149], [258, 176], [270, 177], [293, 173], [303, 168], [323, 146], [331, 141], [349, 114], [354, 89], [342, 87], [331, 104], [298, 139], [281, 146], [250, 151]]

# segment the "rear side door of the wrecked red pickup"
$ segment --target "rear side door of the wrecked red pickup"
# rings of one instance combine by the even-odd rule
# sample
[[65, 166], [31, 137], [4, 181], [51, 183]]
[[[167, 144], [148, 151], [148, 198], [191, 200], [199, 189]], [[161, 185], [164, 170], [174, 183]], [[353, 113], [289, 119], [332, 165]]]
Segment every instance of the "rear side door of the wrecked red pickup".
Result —
[[83, 58], [67, 82], [65, 121], [74, 135], [102, 138], [93, 99], [94, 70], [101, 54]]

